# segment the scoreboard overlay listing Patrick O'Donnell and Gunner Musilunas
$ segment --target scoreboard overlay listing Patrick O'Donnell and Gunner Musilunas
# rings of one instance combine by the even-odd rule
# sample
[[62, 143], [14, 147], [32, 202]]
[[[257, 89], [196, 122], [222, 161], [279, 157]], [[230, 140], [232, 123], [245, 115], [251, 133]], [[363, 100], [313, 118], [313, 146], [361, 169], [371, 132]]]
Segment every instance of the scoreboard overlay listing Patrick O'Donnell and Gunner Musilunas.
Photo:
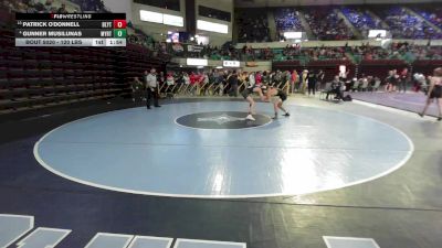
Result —
[[17, 13], [15, 46], [126, 46], [126, 13]]

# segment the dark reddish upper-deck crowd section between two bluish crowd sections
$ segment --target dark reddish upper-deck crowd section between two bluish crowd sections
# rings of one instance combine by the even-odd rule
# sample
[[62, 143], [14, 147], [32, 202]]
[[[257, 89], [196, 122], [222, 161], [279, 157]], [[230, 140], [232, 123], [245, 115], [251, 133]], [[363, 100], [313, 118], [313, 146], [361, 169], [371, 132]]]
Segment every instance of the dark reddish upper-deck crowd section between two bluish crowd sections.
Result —
[[335, 9], [316, 8], [305, 10], [305, 19], [317, 40], [341, 41], [355, 40], [356, 36], [339, 18]]

